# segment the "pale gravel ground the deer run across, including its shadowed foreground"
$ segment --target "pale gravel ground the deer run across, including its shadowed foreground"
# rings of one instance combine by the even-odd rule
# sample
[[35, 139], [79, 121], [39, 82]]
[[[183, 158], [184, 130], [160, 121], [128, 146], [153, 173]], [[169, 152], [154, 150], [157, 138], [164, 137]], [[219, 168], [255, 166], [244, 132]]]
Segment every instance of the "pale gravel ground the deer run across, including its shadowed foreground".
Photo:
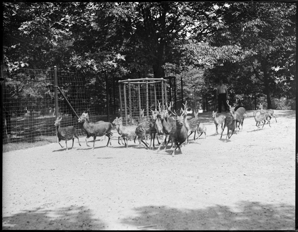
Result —
[[2, 229], [294, 230], [296, 112], [259, 131], [247, 114], [226, 143], [199, 114], [207, 139], [175, 157], [116, 137], [3, 153]]

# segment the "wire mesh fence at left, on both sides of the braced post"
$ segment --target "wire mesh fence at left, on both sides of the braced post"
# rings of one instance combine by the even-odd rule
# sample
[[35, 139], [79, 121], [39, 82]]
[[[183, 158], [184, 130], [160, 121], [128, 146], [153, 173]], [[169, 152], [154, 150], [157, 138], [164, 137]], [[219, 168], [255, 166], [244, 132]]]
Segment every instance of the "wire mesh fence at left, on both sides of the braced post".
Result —
[[[55, 142], [53, 70], [3, 68], [3, 77], [3, 142]], [[90, 121], [95, 120], [85, 80], [78, 73], [63, 71], [57, 72], [57, 79], [58, 86], [75, 111], [81, 114], [89, 109]], [[61, 94], [58, 94], [58, 112], [63, 116], [61, 127], [75, 126], [79, 135], [84, 134]]]

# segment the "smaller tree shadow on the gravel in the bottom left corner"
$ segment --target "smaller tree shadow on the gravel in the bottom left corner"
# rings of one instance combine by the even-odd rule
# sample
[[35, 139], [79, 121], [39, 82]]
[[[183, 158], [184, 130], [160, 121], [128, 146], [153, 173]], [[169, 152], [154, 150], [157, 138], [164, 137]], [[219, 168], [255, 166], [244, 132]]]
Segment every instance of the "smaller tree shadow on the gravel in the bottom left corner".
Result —
[[57, 210], [32, 209], [2, 217], [2, 230], [105, 230], [104, 223], [93, 219], [84, 206]]

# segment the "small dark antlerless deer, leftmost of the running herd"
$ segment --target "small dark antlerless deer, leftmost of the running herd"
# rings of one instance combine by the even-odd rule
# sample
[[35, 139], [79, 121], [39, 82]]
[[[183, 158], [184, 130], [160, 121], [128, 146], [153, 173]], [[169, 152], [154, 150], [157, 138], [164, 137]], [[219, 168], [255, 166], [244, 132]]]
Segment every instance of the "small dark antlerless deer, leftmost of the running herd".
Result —
[[61, 145], [60, 141], [65, 140], [66, 151], [67, 151], [68, 150], [67, 140], [70, 140], [70, 139], [72, 139], [72, 148], [73, 148], [75, 137], [77, 138], [77, 141], [79, 141], [79, 145], [81, 146], [75, 127], [74, 126], [60, 127], [61, 120], [62, 120], [62, 117], [60, 119], [59, 117], [57, 117], [54, 123], [54, 126], [57, 127], [58, 143], [61, 146], [61, 148], [63, 148], [63, 146]]

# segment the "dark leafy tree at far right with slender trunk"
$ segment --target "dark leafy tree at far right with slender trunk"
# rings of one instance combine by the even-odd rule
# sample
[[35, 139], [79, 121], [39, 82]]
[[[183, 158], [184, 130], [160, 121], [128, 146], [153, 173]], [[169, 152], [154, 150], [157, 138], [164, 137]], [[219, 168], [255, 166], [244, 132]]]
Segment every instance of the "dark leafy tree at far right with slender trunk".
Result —
[[[231, 78], [237, 86], [233, 88], [235, 93], [257, 94], [252, 90], [260, 87], [259, 93], [266, 95], [268, 108], [272, 108], [271, 96], [285, 96], [296, 71], [295, 15], [296, 5], [293, 3], [231, 4], [221, 23], [216, 25], [218, 33], [213, 37], [213, 44], [237, 44], [250, 54], [236, 61], [237, 64], [216, 66], [212, 72], [232, 77], [238, 69], [240, 78]], [[246, 81], [248, 78], [250, 80]]]

